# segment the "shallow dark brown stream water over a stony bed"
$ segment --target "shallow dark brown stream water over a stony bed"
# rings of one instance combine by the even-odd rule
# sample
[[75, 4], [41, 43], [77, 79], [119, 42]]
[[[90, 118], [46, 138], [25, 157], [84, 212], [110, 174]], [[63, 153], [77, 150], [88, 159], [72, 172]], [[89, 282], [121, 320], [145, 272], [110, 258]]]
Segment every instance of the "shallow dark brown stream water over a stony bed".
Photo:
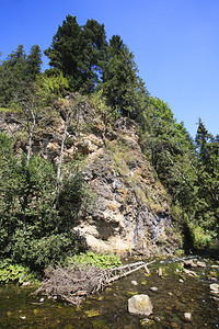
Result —
[[[157, 260], [149, 265], [150, 275], [145, 270], [135, 272], [78, 308], [31, 295], [35, 288], [0, 286], [0, 328], [219, 328], [219, 295], [214, 296], [209, 288], [212, 282], [219, 282], [219, 262], [198, 261], [204, 261], [206, 268], [192, 269], [197, 274], [192, 277], [175, 272], [176, 268], [182, 270], [182, 259]], [[159, 268], [162, 276], [158, 275]], [[128, 314], [127, 300], [136, 294], [147, 294], [152, 300], [153, 314], [148, 324], [146, 317]], [[191, 321], [185, 319], [185, 313], [192, 315]]]

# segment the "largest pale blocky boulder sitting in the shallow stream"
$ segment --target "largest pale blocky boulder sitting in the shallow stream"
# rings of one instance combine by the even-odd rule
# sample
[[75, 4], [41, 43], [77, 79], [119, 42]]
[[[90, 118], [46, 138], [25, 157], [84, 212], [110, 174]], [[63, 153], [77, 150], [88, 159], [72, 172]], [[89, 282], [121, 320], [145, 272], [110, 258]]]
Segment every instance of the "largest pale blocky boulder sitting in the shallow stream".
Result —
[[148, 295], [135, 295], [128, 299], [128, 311], [149, 316], [152, 314], [152, 303]]

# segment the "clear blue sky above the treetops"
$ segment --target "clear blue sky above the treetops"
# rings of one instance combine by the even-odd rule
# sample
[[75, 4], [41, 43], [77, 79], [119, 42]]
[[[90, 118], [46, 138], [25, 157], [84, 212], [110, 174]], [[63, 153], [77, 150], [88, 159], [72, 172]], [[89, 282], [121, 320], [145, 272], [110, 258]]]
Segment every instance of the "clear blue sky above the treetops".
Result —
[[0, 0], [1, 58], [20, 44], [45, 50], [67, 14], [119, 34], [149, 92], [193, 137], [198, 117], [219, 134], [219, 0]]

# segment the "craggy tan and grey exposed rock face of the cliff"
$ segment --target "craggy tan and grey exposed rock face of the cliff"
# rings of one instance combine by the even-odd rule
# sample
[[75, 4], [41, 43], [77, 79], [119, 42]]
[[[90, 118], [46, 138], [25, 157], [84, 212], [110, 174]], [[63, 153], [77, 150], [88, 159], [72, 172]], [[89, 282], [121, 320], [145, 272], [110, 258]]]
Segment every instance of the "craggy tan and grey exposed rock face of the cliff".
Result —
[[[65, 106], [70, 102], [66, 100]], [[50, 116], [42, 116], [33, 140], [33, 152], [55, 164], [64, 134], [62, 109], [60, 101]], [[0, 128], [16, 134], [21, 123], [12, 116], [1, 117]], [[25, 136], [16, 148], [18, 152], [26, 149]], [[134, 121], [120, 117], [108, 124], [94, 106], [81, 103], [68, 128], [64, 161], [78, 154], [85, 155], [83, 175], [95, 201], [73, 229], [92, 249], [150, 256], [177, 248], [164, 189], [140, 149]]]

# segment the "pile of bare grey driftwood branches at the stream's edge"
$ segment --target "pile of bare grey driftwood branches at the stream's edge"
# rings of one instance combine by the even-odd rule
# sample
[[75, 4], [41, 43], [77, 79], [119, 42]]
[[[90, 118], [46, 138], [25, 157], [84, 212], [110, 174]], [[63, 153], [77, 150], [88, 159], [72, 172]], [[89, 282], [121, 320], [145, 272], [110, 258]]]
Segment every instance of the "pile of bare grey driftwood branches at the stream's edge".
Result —
[[[152, 263], [152, 262], [150, 262]], [[149, 264], [149, 263], [148, 263]], [[59, 297], [71, 304], [79, 305], [88, 295], [102, 291], [110, 283], [126, 276], [141, 268], [146, 268], [145, 262], [137, 262], [107, 269], [96, 269], [94, 266], [79, 266], [77, 263], [68, 269], [49, 266], [46, 271], [46, 279], [35, 294], [43, 294], [48, 297]]]

